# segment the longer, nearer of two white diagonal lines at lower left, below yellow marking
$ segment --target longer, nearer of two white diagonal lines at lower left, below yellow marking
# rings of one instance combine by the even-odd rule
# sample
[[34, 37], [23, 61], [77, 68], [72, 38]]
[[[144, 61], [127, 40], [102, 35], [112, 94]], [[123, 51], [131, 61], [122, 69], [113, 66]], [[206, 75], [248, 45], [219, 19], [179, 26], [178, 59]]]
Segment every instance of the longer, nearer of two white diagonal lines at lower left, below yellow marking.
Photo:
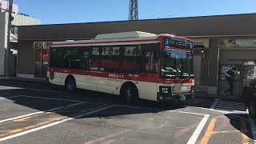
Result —
[[80, 115], [77, 115], [77, 116], [75, 116], [75, 117], [73, 117], [73, 118], [66, 118], [66, 119], [63, 119], [63, 120], [58, 121], [58, 122], [50, 123], [50, 124], [48, 124], [48, 125], [46, 125], [46, 126], [40, 126], [40, 127], [38, 127], [38, 128], [31, 129], [31, 130], [26, 130], [26, 131], [23, 131], [23, 132], [18, 133], [18, 134], [14, 134], [14, 135], [7, 136], [7, 137], [5, 137], [5, 138], [0, 138], [0, 142], [5, 141], [5, 140], [10, 139], [10, 138], [16, 138], [16, 137], [22, 136], [22, 135], [24, 135], [24, 134], [30, 134], [30, 133], [32, 133], [32, 132], [34, 132], [34, 131], [42, 130], [42, 129], [45, 129], [45, 128], [50, 127], [50, 126], [55, 126], [55, 125], [58, 125], [58, 124], [60, 124], [60, 123], [73, 120], [74, 118], [81, 118], [81, 117], [86, 116], [86, 115], [89, 115], [89, 114], [94, 114], [94, 113], [97, 113], [97, 112], [102, 111], [102, 110], [109, 109], [109, 108], [114, 107], [114, 106], [115, 106], [115, 105], [105, 106], [105, 107], [102, 107], [102, 108], [100, 108], [100, 109], [97, 109], [97, 108], [96, 108], [97, 110], [93, 110], [93, 111], [87, 112], [87, 113], [85, 113], [85, 114], [80, 114]]

